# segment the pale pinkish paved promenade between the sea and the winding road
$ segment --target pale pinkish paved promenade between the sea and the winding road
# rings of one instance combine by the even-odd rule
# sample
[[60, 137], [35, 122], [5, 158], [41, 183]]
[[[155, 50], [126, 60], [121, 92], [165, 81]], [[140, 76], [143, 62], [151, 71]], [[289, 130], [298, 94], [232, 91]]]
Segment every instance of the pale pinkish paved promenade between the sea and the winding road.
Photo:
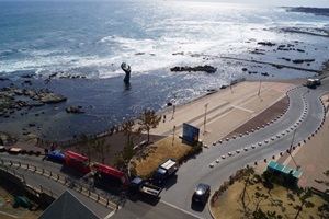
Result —
[[182, 124], [200, 128], [200, 138], [212, 145], [286, 96], [294, 84], [277, 82], [240, 82], [200, 100], [173, 107], [162, 114], [166, 120], [151, 134], [182, 134]]

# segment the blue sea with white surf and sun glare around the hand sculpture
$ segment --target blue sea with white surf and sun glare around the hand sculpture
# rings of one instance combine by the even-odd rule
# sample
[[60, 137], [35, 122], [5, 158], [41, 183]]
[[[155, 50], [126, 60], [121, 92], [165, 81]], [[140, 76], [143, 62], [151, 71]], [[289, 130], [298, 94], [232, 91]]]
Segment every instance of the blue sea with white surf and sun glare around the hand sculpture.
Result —
[[[48, 89], [68, 100], [2, 116], [0, 131], [66, 140], [236, 80], [313, 77], [329, 59], [328, 21], [287, 8], [202, 1], [1, 1], [0, 78], [9, 80], [0, 88]], [[128, 85], [122, 62], [132, 69]], [[170, 70], [205, 65], [216, 72]], [[27, 74], [31, 84], [23, 83]], [[66, 113], [71, 105], [84, 113]]]

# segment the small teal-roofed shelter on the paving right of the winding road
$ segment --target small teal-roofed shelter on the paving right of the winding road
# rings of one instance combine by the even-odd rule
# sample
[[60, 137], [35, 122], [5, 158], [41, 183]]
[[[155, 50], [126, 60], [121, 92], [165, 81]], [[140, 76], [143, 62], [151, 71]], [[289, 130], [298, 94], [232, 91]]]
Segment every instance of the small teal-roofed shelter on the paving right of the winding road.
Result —
[[291, 169], [288, 166], [285, 166], [281, 163], [276, 163], [275, 161], [271, 161], [268, 164], [268, 171], [272, 171], [274, 175], [283, 176], [283, 178], [285, 181], [287, 181], [287, 183], [290, 185], [294, 185], [294, 186], [297, 186], [298, 181], [299, 181], [299, 178], [303, 174], [300, 171], [293, 170], [293, 169]]

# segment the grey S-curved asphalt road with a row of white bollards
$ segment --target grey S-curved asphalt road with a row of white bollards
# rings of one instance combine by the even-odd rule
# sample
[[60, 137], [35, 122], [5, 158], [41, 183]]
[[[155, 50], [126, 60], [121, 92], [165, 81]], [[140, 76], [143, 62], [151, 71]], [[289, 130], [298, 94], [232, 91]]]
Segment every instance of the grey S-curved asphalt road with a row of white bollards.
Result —
[[[293, 145], [296, 146], [311, 136], [324, 120], [325, 110], [319, 101], [319, 97], [328, 91], [324, 89], [325, 85], [317, 90], [308, 90], [305, 87], [291, 90], [287, 93], [290, 106], [280, 118], [260, 130], [212, 146], [196, 159], [184, 163], [177, 173], [177, 182], [172, 182], [174, 185], [162, 192], [161, 201], [198, 217], [211, 218], [207, 208], [191, 207], [191, 196], [195, 186], [204, 182], [209, 184], [214, 192], [219, 184], [246, 164], [290, 149], [293, 139]], [[237, 153], [237, 150], [240, 152]], [[229, 152], [231, 155], [228, 155]], [[225, 155], [225, 159], [222, 155]]]

